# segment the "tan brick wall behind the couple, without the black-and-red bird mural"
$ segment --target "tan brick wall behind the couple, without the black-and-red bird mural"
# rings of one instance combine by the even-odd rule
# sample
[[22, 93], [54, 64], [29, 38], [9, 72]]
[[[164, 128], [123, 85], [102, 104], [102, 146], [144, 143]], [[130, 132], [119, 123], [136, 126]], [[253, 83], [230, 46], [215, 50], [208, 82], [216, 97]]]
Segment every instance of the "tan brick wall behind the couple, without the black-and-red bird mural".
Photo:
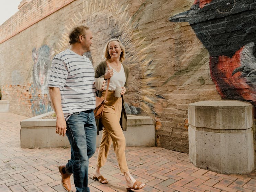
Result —
[[[130, 67], [127, 112], [155, 119], [157, 146], [188, 152], [188, 104], [232, 99], [234, 95], [229, 92], [229, 97], [225, 97], [223, 84], [216, 80], [216, 69], [211, 67], [217, 56], [209, 51], [195, 25], [180, 18], [169, 21], [170, 16], [197, 6], [194, 1], [62, 2], [66, 5], [57, 0], [32, 0], [0, 26], [0, 87], [2, 99], [11, 102], [11, 112], [30, 117], [52, 110], [45, 87], [51, 59], [68, 47], [69, 30], [75, 24], [86, 23], [93, 33], [93, 45], [87, 55], [94, 66], [101, 60], [103, 47], [110, 38], [120, 38], [126, 47], [124, 63]], [[196, 2], [202, 9], [211, 0]], [[248, 11], [241, 12], [249, 14]], [[36, 15], [27, 16], [33, 14]], [[225, 63], [224, 56], [218, 56], [222, 59], [218, 61]], [[241, 76], [243, 71], [238, 73]]]

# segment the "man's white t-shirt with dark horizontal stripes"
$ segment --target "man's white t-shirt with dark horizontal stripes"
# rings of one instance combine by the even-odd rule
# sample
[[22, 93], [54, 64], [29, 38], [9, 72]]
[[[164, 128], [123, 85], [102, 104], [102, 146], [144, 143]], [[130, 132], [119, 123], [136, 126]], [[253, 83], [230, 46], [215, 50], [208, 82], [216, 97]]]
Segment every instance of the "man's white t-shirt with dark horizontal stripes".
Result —
[[94, 69], [90, 59], [67, 49], [52, 61], [48, 87], [58, 87], [64, 117], [95, 109]]

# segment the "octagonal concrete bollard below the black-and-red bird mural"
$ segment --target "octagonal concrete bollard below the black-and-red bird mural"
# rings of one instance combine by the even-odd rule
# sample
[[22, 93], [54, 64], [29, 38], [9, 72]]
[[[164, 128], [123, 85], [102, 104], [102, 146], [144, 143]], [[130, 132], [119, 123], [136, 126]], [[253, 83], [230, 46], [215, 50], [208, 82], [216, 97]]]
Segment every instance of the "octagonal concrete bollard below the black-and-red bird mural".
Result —
[[248, 102], [189, 104], [189, 159], [194, 166], [224, 174], [254, 170], [253, 112]]

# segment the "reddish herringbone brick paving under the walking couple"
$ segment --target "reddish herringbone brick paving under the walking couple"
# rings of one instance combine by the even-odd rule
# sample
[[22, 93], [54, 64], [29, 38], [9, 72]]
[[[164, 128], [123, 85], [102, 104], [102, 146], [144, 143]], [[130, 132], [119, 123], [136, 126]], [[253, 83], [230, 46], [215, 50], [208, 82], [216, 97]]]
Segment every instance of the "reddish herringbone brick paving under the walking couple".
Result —
[[[21, 149], [20, 121], [25, 118], [0, 113], [0, 192], [65, 191], [58, 165], [69, 159], [70, 149]], [[96, 155], [97, 152], [90, 159], [89, 177]], [[134, 178], [147, 185], [137, 192], [256, 192], [256, 171], [244, 176], [219, 174], [194, 167], [188, 154], [159, 147], [127, 147], [126, 158]], [[89, 178], [91, 191], [126, 191], [113, 149], [102, 173], [109, 183], [100, 184]], [[73, 181], [72, 184], [75, 192]]]

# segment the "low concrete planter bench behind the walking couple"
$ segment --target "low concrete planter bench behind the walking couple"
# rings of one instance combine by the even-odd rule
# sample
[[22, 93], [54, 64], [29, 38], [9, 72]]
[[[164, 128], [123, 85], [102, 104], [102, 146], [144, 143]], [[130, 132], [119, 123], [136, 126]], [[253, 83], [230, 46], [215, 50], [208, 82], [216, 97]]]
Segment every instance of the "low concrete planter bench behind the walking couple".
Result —
[[[38, 115], [21, 121], [21, 148], [70, 147], [67, 137], [55, 133], [55, 119], [41, 119], [54, 112]], [[101, 140], [97, 136], [96, 145]], [[124, 131], [127, 147], [155, 146], [155, 124], [151, 117], [127, 115], [127, 131]]]

